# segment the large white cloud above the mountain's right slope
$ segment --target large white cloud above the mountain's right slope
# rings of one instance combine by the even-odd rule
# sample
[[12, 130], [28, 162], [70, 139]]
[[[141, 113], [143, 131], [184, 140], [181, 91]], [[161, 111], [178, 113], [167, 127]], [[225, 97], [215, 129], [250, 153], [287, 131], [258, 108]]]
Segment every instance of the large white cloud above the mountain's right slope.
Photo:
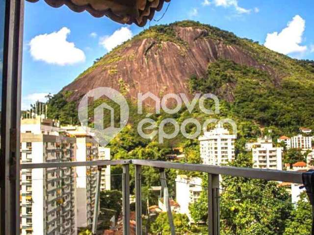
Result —
[[296, 15], [280, 33], [268, 33], [264, 46], [283, 54], [304, 52], [307, 47], [299, 45], [302, 43], [304, 30], [305, 20]]

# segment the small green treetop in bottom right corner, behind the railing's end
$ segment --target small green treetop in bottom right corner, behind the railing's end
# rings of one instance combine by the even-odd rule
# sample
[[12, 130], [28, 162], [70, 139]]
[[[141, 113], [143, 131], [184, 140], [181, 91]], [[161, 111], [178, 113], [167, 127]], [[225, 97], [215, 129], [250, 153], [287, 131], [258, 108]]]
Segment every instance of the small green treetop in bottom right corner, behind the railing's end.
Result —
[[306, 200], [306, 193], [300, 195], [298, 205], [291, 212], [290, 218], [286, 222], [284, 235], [297, 234], [309, 235], [312, 226], [312, 206]]

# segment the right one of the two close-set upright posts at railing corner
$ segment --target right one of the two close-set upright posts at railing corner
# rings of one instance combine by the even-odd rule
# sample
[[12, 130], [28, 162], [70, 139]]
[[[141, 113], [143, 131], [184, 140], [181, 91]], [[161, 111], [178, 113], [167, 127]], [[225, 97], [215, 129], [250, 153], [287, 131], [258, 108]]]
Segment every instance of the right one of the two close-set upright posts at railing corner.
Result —
[[141, 165], [135, 165], [136, 235], [142, 235]]

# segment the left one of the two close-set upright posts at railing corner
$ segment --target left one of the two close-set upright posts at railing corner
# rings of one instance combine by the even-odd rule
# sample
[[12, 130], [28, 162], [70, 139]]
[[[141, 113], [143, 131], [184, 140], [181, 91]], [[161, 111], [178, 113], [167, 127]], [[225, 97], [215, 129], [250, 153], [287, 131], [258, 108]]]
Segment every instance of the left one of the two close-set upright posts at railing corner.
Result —
[[122, 174], [123, 194], [123, 235], [130, 235], [130, 166], [123, 165]]

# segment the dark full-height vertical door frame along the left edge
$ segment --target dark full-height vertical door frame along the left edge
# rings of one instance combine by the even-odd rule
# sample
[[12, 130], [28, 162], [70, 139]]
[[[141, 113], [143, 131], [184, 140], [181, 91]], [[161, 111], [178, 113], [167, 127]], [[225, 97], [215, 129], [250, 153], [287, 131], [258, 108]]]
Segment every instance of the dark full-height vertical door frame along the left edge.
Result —
[[0, 234], [20, 234], [20, 118], [24, 0], [1, 1]]

